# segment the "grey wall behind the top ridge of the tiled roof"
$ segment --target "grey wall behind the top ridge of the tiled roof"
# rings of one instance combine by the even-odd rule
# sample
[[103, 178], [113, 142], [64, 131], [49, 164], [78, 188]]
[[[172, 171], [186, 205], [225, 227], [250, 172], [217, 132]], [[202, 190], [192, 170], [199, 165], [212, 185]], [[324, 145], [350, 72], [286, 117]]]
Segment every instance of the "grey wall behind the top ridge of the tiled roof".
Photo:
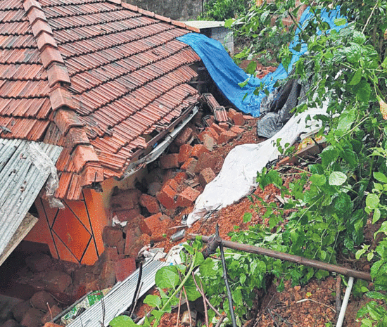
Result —
[[201, 13], [202, 0], [124, 0], [147, 11], [174, 20], [194, 20]]

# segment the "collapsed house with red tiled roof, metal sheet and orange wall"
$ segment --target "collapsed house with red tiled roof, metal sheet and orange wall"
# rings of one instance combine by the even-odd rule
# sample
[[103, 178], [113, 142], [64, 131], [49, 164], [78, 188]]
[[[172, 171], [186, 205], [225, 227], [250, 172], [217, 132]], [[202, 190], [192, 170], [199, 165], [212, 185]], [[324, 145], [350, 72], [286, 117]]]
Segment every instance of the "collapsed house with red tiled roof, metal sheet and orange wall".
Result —
[[[120, 0], [0, 4], [1, 262], [22, 239], [96, 262], [115, 186], [129, 188], [196, 113], [200, 58], [176, 39], [191, 30]], [[51, 195], [43, 158], [58, 172]]]

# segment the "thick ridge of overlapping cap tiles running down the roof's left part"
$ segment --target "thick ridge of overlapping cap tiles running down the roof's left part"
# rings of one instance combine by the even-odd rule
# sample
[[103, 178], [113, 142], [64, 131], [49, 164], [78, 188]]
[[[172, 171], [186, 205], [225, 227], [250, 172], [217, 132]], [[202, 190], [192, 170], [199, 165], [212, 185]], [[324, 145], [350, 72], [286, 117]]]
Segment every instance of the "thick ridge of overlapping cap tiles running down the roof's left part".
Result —
[[[68, 86], [71, 85], [70, 75], [65, 66], [61, 51], [59, 51], [53, 32], [46, 15], [36, 0], [23, 0], [23, 8], [30, 21], [34, 39], [38, 44], [40, 58], [46, 70], [50, 86], [49, 99], [53, 110], [53, 122], [66, 140], [68, 148], [74, 154], [74, 165], [77, 174], [81, 176], [82, 186], [99, 183], [103, 176], [103, 167], [99, 165], [99, 158], [91, 146], [90, 140], [77, 116], [79, 103], [75, 101]], [[88, 165], [93, 163], [93, 167]], [[91, 179], [91, 170], [98, 178]]]

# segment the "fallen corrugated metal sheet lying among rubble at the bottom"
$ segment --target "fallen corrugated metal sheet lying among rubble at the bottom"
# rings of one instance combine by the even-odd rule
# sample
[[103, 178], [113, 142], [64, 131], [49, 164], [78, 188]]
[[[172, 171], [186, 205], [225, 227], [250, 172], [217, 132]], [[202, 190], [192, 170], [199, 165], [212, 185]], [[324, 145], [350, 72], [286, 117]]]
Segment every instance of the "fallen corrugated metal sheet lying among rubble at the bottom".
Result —
[[[166, 262], [151, 261], [146, 262], [143, 267], [141, 282], [143, 286], [140, 290], [140, 297], [155, 285], [155, 276], [158, 269], [167, 266]], [[81, 314], [75, 321], [72, 321], [68, 327], [96, 327], [108, 326], [109, 322], [125, 312], [127, 307], [132, 304], [134, 291], [136, 290], [137, 279], [139, 278], [139, 269], [134, 271], [132, 275], [117, 283], [110, 292], [103, 297], [103, 302], [99, 301], [83, 314]], [[102, 325], [104, 317], [104, 324]]]

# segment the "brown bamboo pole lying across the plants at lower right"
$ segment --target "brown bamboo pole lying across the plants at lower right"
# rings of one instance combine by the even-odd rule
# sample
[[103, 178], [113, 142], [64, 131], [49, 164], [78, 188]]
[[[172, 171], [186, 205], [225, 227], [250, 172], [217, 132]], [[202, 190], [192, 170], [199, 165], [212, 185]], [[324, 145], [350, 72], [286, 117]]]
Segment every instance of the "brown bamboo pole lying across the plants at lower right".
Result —
[[[188, 238], [190, 240], [194, 240], [196, 236], [199, 236], [198, 234], [189, 233]], [[210, 237], [209, 236], [202, 236], [202, 241], [204, 243], [208, 243]], [[222, 238], [220, 239], [222, 242], [222, 245], [225, 248], [230, 248], [234, 250], [249, 252], [249, 253], [255, 253], [257, 255], [267, 255], [267, 257], [274, 257], [276, 259], [286, 260], [289, 262], [295, 262], [296, 264], [303, 264], [307, 267], [322, 269], [326, 271], [332, 271], [336, 272], [337, 274], [341, 274], [344, 276], [350, 276], [353, 278], [363, 279], [364, 281], [371, 281], [371, 275], [364, 271], [358, 271], [354, 269], [348, 269], [345, 267], [338, 266], [336, 264], [328, 264], [326, 262], [317, 261], [314, 259], [307, 259], [305, 257], [300, 257], [298, 255], [288, 255], [288, 253], [274, 251], [274, 250], [268, 250], [265, 248], [259, 248], [258, 246], [254, 245], [247, 245], [247, 244], [241, 244], [231, 241], [225, 241]]]

